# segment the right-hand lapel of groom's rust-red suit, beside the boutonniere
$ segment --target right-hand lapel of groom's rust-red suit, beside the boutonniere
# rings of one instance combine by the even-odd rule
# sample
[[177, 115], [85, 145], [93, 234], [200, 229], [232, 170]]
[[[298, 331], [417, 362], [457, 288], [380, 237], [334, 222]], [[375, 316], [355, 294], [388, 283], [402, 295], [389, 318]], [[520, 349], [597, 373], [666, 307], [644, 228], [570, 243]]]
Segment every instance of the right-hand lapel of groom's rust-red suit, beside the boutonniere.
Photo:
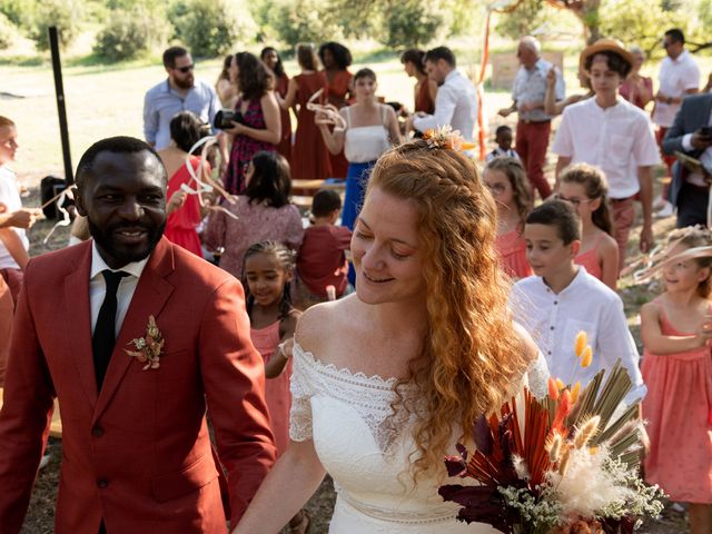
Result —
[[[174, 290], [174, 286], [165, 280], [165, 277], [174, 270], [172, 245], [165, 237], [156, 246], [150, 259], [141, 273], [138, 286], [131, 298], [131, 304], [121, 325], [121, 330], [116, 340], [116, 347], [109, 362], [109, 368], [101, 386], [98, 405], [95, 411], [93, 421], [107, 408], [117, 387], [121, 383], [123, 375], [130, 365], [140, 365], [136, 358], [125, 353], [129, 348], [131, 339], [146, 335], [148, 317], [152, 315], [158, 320], [158, 315], [166, 305], [168, 297]], [[158, 320], [160, 328], [160, 320]], [[147, 372], [149, 373], [149, 372]], [[155, 372], [154, 372], [155, 373]], [[93, 378], [93, 376], [92, 376]]]

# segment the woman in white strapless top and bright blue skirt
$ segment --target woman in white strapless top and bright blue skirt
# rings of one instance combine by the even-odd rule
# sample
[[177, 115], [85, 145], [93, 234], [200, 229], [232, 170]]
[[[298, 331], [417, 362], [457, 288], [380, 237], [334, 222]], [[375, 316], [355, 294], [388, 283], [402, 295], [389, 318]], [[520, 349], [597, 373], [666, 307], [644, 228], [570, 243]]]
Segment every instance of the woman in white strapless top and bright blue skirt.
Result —
[[382, 154], [400, 144], [396, 113], [390, 106], [378, 103], [377, 87], [376, 73], [360, 69], [354, 76], [356, 102], [339, 111], [344, 127], [330, 129], [326, 118], [317, 115], [326, 148], [332, 154], [344, 151], [348, 160], [342, 224], [349, 229], [354, 229], [370, 169]]

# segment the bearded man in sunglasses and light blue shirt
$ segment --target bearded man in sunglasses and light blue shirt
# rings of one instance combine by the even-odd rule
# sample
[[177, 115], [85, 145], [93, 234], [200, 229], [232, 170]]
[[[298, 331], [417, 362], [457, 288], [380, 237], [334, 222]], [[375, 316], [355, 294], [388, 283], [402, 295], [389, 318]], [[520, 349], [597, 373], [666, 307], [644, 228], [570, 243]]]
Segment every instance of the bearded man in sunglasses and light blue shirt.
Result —
[[188, 50], [171, 47], [164, 52], [168, 79], [152, 87], [144, 100], [144, 136], [156, 150], [170, 144], [170, 120], [180, 111], [192, 111], [211, 125], [220, 103], [215, 89], [196, 80]]

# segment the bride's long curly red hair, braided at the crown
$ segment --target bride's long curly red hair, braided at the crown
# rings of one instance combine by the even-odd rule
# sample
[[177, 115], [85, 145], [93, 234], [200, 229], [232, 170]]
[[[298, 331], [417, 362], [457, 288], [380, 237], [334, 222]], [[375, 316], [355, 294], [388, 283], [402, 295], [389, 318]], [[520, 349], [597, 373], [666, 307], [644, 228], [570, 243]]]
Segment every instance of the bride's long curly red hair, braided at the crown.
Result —
[[[396, 384], [394, 413], [416, 413], [413, 476], [443, 471], [453, 431], [500, 409], [527, 366], [507, 309], [510, 285], [495, 249], [496, 207], [475, 164], [461, 152], [415, 140], [374, 167], [378, 188], [418, 211], [427, 334]], [[411, 389], [414, 387], [414, 390]]]

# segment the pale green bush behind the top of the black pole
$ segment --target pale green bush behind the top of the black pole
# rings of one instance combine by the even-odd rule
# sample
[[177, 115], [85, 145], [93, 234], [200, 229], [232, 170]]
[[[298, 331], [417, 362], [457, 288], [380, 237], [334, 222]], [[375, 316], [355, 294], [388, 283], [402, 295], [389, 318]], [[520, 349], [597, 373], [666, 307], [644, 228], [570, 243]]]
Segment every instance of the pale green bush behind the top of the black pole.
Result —
[[48, 27], [56, 26], [59, 46], [67, 48], [81, 31], [83, 10], [81, 0], [43, 0], [33, 17], [30, 38], [39, 50], [49, 49]]

